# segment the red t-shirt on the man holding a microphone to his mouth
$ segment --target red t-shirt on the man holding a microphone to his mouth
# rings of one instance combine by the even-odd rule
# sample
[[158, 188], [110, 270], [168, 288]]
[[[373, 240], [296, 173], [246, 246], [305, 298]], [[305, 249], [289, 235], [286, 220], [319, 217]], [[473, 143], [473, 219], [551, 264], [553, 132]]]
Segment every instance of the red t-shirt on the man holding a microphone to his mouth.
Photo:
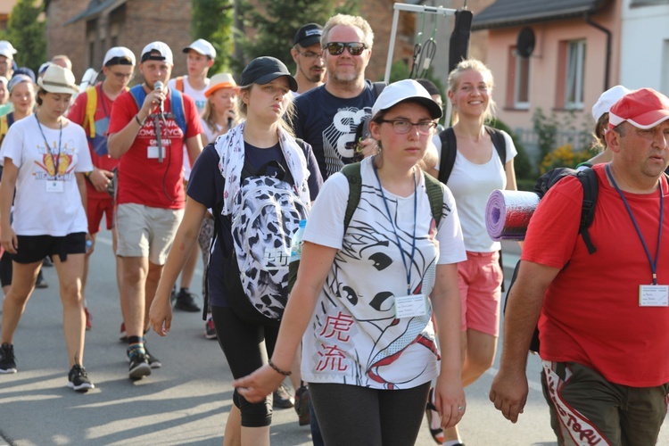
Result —
[[[165, 112], [171, 110], [170, 92], [164, 103]], [[124, 92], [114, 101], [111, 109], [109, 133], [116, 133], [135, 119], [138, 108], [133, 96]], [[202, 133], [193, 99], [184, 95], [186, 138]], [[153, 208], [182, 209], [184, 194], [184, 133], [176, 120], [168, 118], [161, 124], [161, 143], [165, 150], [162, 162], [149, 153], [157, 154], [153, 120], [147, 119], [139, 130], [128, 152], [120, 157], [119, 190], [117, 202], [134, 202]], [[152, 150], [153, 148], [153, 150]]]

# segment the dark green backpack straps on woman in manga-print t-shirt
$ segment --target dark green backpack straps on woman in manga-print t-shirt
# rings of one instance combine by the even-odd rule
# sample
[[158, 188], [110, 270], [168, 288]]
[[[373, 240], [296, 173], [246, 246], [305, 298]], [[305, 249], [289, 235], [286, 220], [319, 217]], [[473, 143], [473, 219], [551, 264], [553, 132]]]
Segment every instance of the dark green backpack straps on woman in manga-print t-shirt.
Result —
[[[349, 228], [349, 223], [351, 223], [351, 218], [353, 217], [353, 212], [358, 209], [360, 196], [362, 195], [360, 163], [354, 162], [352, 164], [347, 164], [343, 167], [341, 172], [343, 173], [343, 176], [349, 180], [349, 200], [346, 203], [346, 212], [343, 216], [343, 233], [346, 234], [346, 230]], [[425, 192], [427, 192], [427, 198], [430, 200], [430, 209], [432, 210], [436, 226], [439, 226], [443, 210], [443, 186], [442, 183], [433, 176], [426, 172], [423, 173], [425, 177]], [[292, 260], [288, 264], [289, 292], [293, 290], [293, 285], [295, 285], [298, 268], [300, 268], [300, 260]]]

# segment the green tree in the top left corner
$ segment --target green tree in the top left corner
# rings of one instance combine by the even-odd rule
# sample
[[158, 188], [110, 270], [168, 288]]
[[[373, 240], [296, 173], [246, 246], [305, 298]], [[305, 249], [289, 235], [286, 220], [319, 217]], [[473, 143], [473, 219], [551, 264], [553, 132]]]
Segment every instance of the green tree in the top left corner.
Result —
[[39, 19], [43, 6], [35, 4], [37, 0], [19, 0], [9, 14], [2, 37], [18, 50], [14, 58], [16, 64], [37, 72], [46, 60], [46, 21]]

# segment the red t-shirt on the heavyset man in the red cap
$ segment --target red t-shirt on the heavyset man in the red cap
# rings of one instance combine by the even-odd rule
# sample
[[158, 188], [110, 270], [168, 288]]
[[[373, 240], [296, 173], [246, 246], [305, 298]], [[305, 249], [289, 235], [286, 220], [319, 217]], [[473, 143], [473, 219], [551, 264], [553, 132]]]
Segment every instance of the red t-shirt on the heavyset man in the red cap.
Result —
[[[574, 361], [608, 381], [632, 387], [669, 382], [669, 308], [641, 307], [639, 285], [652, 283], [648, 256], [624, 202], [595, 166], [599, 196], [590, 227], [597, 252], [578, 235], [582, 187], [577, 178], [553, 186], [535, 211], [522, 260], [563, 268], [549, 285], [539, 319], [541, 358]], [[657, 283], [669, 285], [669, 188], [665, 200]], [[660, 198], [624, 194], [650, 256], [655, 259]], [[568, 262], [568, 264], [567, 264]]]

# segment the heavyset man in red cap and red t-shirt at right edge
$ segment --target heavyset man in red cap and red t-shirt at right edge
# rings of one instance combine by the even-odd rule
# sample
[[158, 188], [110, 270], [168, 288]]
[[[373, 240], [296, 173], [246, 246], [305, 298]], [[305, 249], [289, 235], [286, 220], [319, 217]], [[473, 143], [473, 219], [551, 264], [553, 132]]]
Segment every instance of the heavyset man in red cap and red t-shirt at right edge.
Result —
[[560, 445], [656, 444], [667, 410], [669, 98], [651, 88], [624, 95], [605, 138], [613, 160], [593, 168], [597, 251], [578, 235], [582, 188], [567, 177], [528, 227], [490, 392], [516, 423], [538, 321], [541, 384]]

